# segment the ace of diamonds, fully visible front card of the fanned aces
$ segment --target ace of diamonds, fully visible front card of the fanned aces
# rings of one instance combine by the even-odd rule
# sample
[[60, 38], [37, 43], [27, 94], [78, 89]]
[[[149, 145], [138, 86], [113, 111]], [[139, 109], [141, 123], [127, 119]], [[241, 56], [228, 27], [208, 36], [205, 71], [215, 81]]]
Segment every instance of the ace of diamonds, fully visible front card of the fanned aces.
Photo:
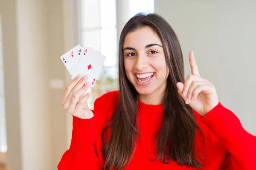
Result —
[[87, 82], [90, 82], [91, 86], [95, 85], [96, 79], [99, 77], [99, 73], [105, 62], [106, 57], [100, 54], [99, 51], [93, 51], [90, 49], [84, 49], [86, 54], [81, 56], [80, 61], [76, 67], [76, 70], [72, 74], [72, 79], [81, 74], [82, 76], [88, 75]]

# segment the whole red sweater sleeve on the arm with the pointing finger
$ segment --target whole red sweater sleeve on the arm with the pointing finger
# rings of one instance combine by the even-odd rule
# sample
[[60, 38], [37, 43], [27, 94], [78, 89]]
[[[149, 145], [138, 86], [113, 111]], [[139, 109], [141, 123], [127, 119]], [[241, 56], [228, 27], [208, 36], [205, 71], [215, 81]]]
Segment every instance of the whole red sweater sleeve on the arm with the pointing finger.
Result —
[[230, 153], [225, 160], [229, 162], [227, 169], [252, 170], [256, 167], [256, 136], [244, 130], [232, 111], [219, 102], [200, 121], [209, 127]]

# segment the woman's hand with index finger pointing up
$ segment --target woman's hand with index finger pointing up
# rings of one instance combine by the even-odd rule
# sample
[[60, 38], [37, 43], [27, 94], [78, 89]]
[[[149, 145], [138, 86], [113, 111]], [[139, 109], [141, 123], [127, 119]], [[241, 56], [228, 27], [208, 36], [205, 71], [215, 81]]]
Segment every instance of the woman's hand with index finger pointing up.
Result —
[[200, 77], [193, 51], [189, 52], [189, 63], [191, 74], [186, 78], [184, 84], [177, 83], [178, 92], [186, 104], [204, 116], [218, 105], [218, 96], [214, 85]]

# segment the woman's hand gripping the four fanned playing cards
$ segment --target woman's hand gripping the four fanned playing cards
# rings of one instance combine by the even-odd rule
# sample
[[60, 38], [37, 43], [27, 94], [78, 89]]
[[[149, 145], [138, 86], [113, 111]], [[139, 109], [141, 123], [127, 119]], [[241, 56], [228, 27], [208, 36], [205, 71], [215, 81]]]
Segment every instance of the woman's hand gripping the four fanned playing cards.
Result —
[[80, 119], [90, 119], [94, 116], [93, 112], [87, 105], [87, 99], [90, 97], [90, 93], [84, 95], [90, 87], [89, 82], [85, 84], [87, 79], [87, 75], [84, 77], [79, 75], [73, 79], [73, 81], [67, 85], [62, 99], [64, 109], [67, 110], [68, 113]]

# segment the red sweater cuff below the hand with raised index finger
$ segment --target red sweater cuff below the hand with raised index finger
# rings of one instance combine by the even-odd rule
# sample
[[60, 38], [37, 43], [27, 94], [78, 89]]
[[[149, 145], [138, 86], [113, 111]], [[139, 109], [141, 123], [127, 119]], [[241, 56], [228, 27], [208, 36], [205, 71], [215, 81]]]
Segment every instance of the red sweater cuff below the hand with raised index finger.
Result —
[[229, 138], [243, 129], [237, 116], [219, 102], [215, 108], [200, 118], [219, 139]]

